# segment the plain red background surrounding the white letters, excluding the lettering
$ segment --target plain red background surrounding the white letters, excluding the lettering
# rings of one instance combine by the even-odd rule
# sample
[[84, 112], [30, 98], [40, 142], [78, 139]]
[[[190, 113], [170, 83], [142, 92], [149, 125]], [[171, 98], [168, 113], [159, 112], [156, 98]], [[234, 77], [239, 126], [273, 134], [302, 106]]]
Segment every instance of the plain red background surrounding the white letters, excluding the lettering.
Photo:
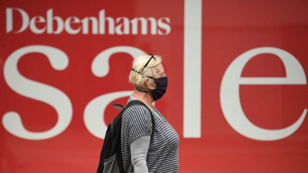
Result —
[[[98, 18], [106, 16], [170, 18], [168, 35], [34, 34], [29, 27], [21, 33], [6, 33], [6, 8], [25, 10], [29, 17], [53, 9], [53, 16]], [[14, 30], [21, 17], [14, 15]], [[0, 126], [0, 172], [96, 172], [103, 140], [85, 127], [83, 112], [95, 97], [133, 90], [128, 83], [132, 57], [116, 53], [110, 58], [106, 77], [96, 77], [91, 63], [101, 51], [113, 46], [133, 46], [164, 58], [168, 90], [156, 107], [180, 135], [179, 172], [307, 172], [308, 123], [292, 135], [275, 141], [249, 139], [227, 123], [220, 105], [220, 85], [229, 64], [243, 52], [262, 46], [288, 51], [308, 71], [308, 3], [304, 1], [203, 1], [201, 138], [183, 137], [184, 1], [9, 1], [0, 8], [0, 115], [16, 111], [28, 131], [52, 128], [57, 112], [50, 105], [21, 96], [6, 84], [3, 65], [15, 50], [30, 45], [47, 45], [63, 50], [69, 57], [65, 70], [54, 70], [45, 55], [30, 53], [18, 62], [26, 78], [58, 88], [71, 100], [73, 118], [65, 131], [44, 140], [16, 137]], [[54, 24], [55, 25], [55, 24]], [[39, 25], [37, 25], [39, 27]], [[150, 26], [150, 25], [148, 25]], [[54, 26], [55, 27], [55, 26]], [[74, 25], [72, 25], [74, 27]], [[76, 25], [77, 27], [77, 25]], [[138, 28], [140, 29], [140, 27]], [[280, 58], [260, 54], [245, 66], [243, 77], [285, 77]], [[193, 76], [192, 76], [193, 77]], [[193, 89], [193, 88], [192, 88]], [[279, 129], [293, 124], [308, 106], [307, 85], [243, 85], [243, 111], [255, 125]], [[128, 97], [114, 100], [125, 104]], [[109, 124], [117, 110], [107, 107]]]

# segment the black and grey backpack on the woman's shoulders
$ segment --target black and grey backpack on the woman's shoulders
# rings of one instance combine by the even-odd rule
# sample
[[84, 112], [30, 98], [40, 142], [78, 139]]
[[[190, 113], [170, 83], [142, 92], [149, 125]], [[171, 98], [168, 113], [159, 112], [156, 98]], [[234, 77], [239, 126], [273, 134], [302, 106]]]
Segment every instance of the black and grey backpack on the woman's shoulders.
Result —
[[141, 105], [148, 109], [152, 115], [152, 135], [154, 136], [156, 122], [152, 111], [140, 100], [132, 100], [125, 107], [119, 104], [112, 104], [112, 107], [118, 108], [121, 112], [111, 121], [107, 127], [102, 151], [100, 153], [99, 165], [96, 173], [128, 173], [132, 167], [132, 162], [124, 171], [121, 149], [121, 124], [124, 111], [131, 106]]

